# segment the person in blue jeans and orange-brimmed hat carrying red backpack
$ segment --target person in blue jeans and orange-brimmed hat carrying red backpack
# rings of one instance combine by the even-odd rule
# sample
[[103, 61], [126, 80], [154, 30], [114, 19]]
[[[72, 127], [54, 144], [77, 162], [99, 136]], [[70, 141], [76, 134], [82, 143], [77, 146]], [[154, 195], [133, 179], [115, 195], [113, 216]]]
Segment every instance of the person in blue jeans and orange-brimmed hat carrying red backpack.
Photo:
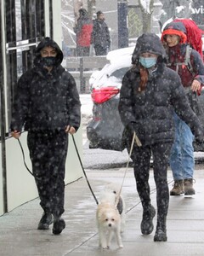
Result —
[[[196, 97], [204, 84], [204, 66], [201, 55], [186, 44], [186, 29], [182, 22], [167, 24], [161, 34], [161, 42], [167, 51], [167, 67], [176, 71], [184, 86], [191, 108], [197, 116], [202, 114]], [[194, 136], [184, 120], [174, 113], [175, 140], [170, 157], [174, 185], [170, 195], [195, 195]]]

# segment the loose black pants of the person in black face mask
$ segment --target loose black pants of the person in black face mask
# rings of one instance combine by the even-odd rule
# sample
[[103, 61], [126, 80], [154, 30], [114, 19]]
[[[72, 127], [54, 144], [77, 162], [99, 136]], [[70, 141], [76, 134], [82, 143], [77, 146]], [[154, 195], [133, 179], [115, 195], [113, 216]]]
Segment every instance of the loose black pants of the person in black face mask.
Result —
[[65, 211], [68, 136], [65, 131], [29, 131], [27, 143], [40, 205], [44, 211], [60, 216]]

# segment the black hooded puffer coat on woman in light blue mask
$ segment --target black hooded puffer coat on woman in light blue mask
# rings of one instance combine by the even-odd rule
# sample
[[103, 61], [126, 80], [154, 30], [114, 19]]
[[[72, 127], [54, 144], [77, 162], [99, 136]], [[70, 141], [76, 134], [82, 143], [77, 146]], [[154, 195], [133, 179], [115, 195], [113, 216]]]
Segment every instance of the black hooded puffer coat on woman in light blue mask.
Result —
[[[139, 92], [139, 55], [151, 52], [159, 55], [156, 70], [149, 72], [146, 88]], [[134, 127], [141, 143], [173, 142], [173, 108], [181, 119], [190, 125], [195, 137], [203, 137], [199, 119], [190, 108], [184, 88], [177, 73], [165, 67], [165, 50], [155, 34], [144, 34], [133, 52], [133, 68], [123, 80], [119, 102], [119, 113], [126, 127], [124, 139], [132, 139], [128, 127]]]

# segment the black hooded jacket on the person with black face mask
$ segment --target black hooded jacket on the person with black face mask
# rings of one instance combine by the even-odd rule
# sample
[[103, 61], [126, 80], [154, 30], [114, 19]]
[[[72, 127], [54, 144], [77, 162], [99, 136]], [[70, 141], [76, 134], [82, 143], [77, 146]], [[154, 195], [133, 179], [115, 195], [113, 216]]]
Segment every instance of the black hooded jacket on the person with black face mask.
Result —
[[[45, 46], [57, 50], [52, 71], [42, 65], [40, 51]], [[34, 67], [24, 73], [14, 97], [11, 131], [65, 130], [66, 125], [77, 130], [81, 121], [81, 103], [76, 82], [60, 64], [63, 53], [51, 38], [37, 45]]]

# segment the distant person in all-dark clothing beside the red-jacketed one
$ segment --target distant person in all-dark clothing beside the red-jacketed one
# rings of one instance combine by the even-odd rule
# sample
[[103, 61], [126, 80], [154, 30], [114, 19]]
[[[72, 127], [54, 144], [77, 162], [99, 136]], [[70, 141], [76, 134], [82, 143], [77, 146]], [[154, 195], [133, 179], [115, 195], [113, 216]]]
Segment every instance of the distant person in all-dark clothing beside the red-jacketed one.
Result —
[[109, 28], [105, 23], [105, 15], [101, 11], [96, 15], [96, 19], [93, 20], [91, 44], [94, 45], [95, 55], [107, 55], [111, 45]]

